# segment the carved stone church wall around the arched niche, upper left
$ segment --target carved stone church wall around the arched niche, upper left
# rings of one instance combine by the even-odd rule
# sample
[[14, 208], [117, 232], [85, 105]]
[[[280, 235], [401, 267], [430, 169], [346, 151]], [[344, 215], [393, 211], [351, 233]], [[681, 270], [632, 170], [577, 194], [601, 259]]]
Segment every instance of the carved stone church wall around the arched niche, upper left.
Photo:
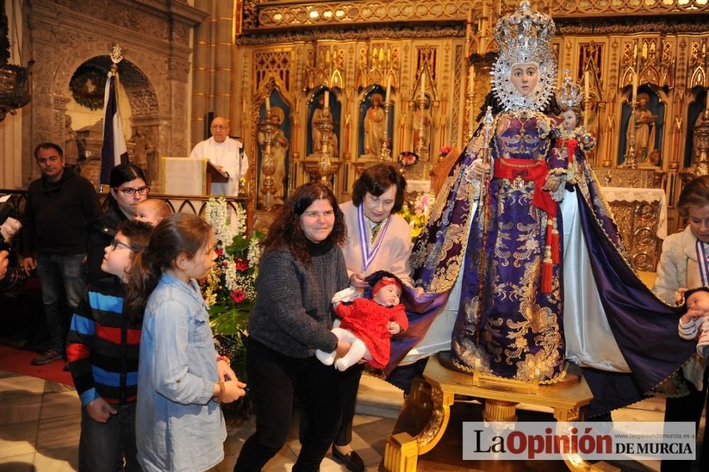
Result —
[[23, 110], [23, 185], [38, 174], [27, 150], [38, 142], [63, 142], [65, 114], [72, 113], [72, 74], [89, 60], [108, 60], [114, 44], [123, 48], [118, 72], [127, 98], [122, 106], [130, 105], [129, 116], [123, 116], [130, 122], [124, 126], [126, 139], [133, 126], [141, 125], [158, 155], [189, 152], [189, 29], [203, 18], [201, 11], [186, 1], [150, 0], [33, 1], [25, 8], [29, 20], [23, 43], [35, 67], [32, 101]]

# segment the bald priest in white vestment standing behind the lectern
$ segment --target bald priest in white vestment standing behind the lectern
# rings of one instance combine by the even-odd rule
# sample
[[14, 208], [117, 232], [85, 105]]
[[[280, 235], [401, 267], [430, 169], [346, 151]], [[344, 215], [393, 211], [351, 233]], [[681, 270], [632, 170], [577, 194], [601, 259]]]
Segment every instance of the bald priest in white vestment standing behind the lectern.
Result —
[[189, 157], [209, 161], [229, 176], [225, 183], [212, 183], [211, 195], [237, 196], [239, 179], [249, 169], [249, 159], [242, 150], [242, 143], [229, 137], [229, 120], [217, 116], [211, 123], [212, 137], [198, 142]]

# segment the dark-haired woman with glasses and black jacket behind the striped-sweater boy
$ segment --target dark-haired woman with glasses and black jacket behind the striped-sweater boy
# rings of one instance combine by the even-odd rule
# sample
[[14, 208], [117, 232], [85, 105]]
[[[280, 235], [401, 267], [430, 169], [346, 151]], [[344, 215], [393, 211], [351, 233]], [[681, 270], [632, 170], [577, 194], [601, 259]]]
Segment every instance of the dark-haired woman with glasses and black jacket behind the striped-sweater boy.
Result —
[[113, 167], [108, 184], [111, 190], [104, 204], [106, 210], [89, 222], [89, 242], [86, 245], [87, 281], [99, 285], [115, 283], [115, 277], [101, 270], [104, 248], [111, 244], [121, 222], [135, 219], [135, 207], [150, 193], [143, 170], [134, 164]]

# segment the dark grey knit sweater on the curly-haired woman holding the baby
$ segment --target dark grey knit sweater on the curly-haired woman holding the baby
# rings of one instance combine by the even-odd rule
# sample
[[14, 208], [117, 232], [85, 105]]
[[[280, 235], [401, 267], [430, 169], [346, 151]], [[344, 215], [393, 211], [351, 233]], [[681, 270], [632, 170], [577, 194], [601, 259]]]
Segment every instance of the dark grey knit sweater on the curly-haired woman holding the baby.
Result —
[[348, 283], [345, 257], [336, 245], [311, 255], [310, 266], [288, 250], [268, 250], [256, 279], [249, 336], [291, 357], [313, 356], [315, 349], [333, 352], [337, 337], [330, 332], [330, 300]]

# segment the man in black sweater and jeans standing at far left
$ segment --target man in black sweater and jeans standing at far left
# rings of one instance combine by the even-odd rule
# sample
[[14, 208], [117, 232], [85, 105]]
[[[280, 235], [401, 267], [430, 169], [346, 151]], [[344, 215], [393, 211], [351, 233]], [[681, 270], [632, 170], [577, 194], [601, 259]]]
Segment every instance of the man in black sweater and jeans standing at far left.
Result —
[[[32, 364], [62, 359], [69, 316], [84, 294], [86, 221], [101, 214], [94, 186], [65, 172], [62, 148], [43, 142], [35, 148], [42, 176], [30, 183], [23, 220], [23, 269], [37, 269], [50, 344]], [[36, 254], [36, 258], [35, 258]], [[66, 306], [62, 306], [62, 305]]]

